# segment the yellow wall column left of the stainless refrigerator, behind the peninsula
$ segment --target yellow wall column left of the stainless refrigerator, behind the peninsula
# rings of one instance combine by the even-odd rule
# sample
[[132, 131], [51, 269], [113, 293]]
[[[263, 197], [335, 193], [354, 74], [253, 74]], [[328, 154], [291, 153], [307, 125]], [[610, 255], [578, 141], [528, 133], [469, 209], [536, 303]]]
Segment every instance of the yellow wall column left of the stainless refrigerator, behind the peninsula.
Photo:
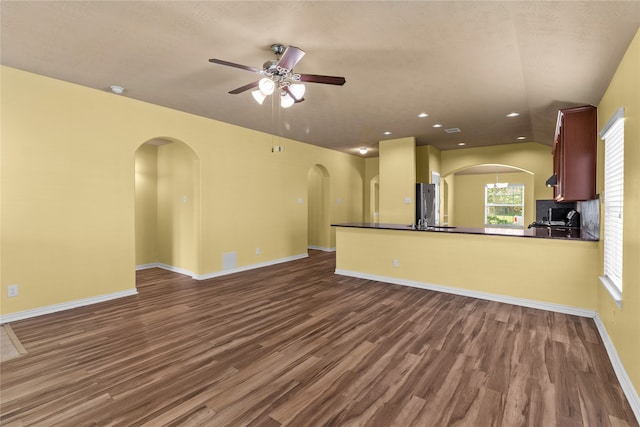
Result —
[[415, 222], [415, 155], [413, 137], [380, 141], [380, 222]]

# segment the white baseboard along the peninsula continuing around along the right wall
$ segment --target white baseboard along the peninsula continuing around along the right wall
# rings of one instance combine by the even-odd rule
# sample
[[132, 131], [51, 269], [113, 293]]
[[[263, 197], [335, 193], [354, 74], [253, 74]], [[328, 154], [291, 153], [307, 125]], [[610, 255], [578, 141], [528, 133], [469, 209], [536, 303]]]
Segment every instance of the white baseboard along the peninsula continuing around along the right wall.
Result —
[[633, 383], [631, 382], [631, 378], [629, 378], [627, 371], [624, 369], [624, 365], [622, 364], [622, 361], [618, 357], [616, 348], [613, 345], [613, 342], [611, 341], [609, 334], [607, 333], [607, 329], [605, 328], [604, 323], [602, 323], [600, 316], [598, 316], [598, 312], [594, 310], [586, 310], [584, 308], [571, 307], [571, 306], [566, 306], [561, 304], [551, 304], [551, 303], [530, 300], [525, 298], [515, 298], [515, 297], [508, 297], [508, 296], [498, 295], [498, 294], [490, 294], [487, 292], [470, 291], [466, 289], [452, 288], [450, 286], [434, 285], [430, 283], [422, 283], [422, 282], [416, 282], [412, 280], [397, 279], [395, 277], [378, 276], [375, 274], [366, 274], [366, 273], [360, 273], [357, 271], [336, 269], [335, 273], [343, 276], [357, 277], [360, 279], [375, 280], [378, 282], [392, 283], [395, 285], [411, 286], [413, 288], [428, 289], [431, 291], [462, 295], [466, 297], [479, 298], [479, 299], [484, 299], [489, 301], [503, 302], [507, 304], [535, 308], [539, 310], [554, 311], [557, 313], [592, 318], [596, 324], [600, 337], [602, 338], [602, 342], [604, 343], [605, 349], [607, 350], [609, 360], [611, 361], [611, 365], [613, 365], [613, 370], [615, 371], [616, 376], [618, 377], [618, 381], [620, 382], [620, 387], [622, 388], [622, 391], [624, 392], [627, 400], [629, 401], [629, 405], [631, 406], [631, 409], [633, 410], [633, 413], [636, 416], [638, 423], [640, 423], [640, 397], [638, 396], [638, 393], [636, 392], [636, 389], [633, 386]]

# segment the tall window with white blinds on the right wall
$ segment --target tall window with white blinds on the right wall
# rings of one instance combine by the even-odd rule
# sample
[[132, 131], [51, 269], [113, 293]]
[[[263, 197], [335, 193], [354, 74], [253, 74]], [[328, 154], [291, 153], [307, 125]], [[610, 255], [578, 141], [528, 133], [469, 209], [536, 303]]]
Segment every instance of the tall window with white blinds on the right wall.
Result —
[[622, 235], [624, 205], [624, 109], [600, 132], [604, 140], [604, 276], [602, 284], [622, 304]]

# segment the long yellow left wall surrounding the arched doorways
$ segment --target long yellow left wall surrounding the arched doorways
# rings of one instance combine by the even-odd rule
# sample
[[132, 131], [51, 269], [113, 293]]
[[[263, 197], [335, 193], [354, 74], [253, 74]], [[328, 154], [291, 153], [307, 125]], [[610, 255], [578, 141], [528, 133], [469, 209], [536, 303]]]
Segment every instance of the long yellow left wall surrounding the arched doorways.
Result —
[[[0, 71], [0, 292], [6, 295], [9, 284], [20, 291], [2, 298], [2, 314], [134, 288], [135, 153], [154, 138], [181, 141], [199, 159], [192, 190], [200, 224], [191, 226], [200, 231], [195, 243], [186, 243], [198, 255], [168, 258], [184, 262], [176, 267], [219, 272], [222, 254], [231, 251], [238, 267], [305, 254], [307, 174], [315, 164], [330, 176], [331, 221], [362, 220], [361, 157]], [[271, 152], [274, 140], [283, 152]]]

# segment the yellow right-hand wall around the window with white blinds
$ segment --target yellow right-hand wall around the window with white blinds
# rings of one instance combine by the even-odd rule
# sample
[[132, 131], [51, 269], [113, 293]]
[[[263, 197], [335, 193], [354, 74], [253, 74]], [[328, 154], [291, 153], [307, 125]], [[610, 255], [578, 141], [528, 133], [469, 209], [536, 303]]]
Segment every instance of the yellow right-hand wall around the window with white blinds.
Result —
[[[625, 110], [622, 309], [598, 286], [598, 314], [640, 394], [640, 31], [598, 105], [600, 129], [620, 107]], [[602, 145], [599, 144], [598, 192], [603, 189]], [[602, 250], [601, 241], [599, 274], [604, 270]], [[598, 281], [596, 277], [591, 280]]]

